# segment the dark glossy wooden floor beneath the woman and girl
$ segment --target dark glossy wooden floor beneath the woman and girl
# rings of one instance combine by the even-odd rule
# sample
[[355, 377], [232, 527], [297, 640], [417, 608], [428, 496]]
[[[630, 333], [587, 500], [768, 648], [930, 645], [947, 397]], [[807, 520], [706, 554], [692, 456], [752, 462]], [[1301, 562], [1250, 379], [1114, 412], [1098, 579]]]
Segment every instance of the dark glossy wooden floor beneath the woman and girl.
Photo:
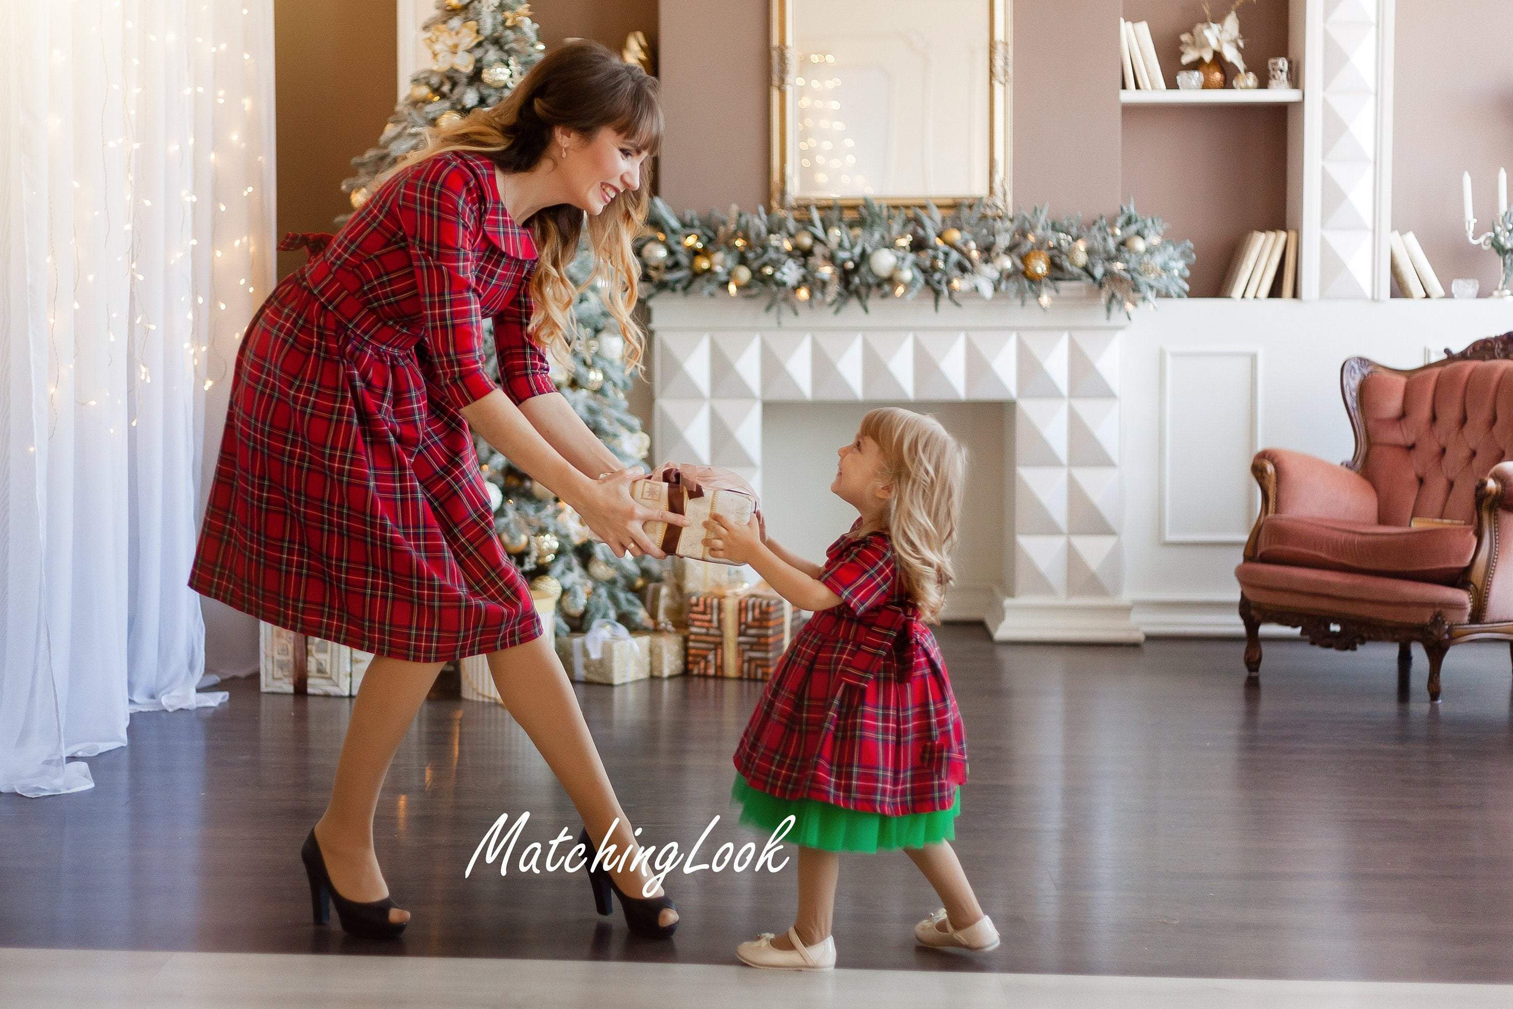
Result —
[[[1400, 702], [1393, 646], [1268, 643], [1245, 690], [1239, 641], [996, 646], [968, 626], [941, 640], [971, 753], [956, 847], [1005, 941], [979, 959], [915, 948], [911, 926], [937, 906], [926, 883], [902, 853], [850, 856], [843, 965], [1513, 980], [1505, 647], [1454, 649], [1431, 706], [1422, 655]], [[643, 838], [687, 846], [716, 814], [716, 844], [755, 837], [726, 796], [760, 688], [579, 687]], [[130, 746], [89, 761], [92, 791], [0, 796], [0, 945], [729, 964], [791, 920], [791, 864], [672, 876], [672, 942], [604, 924], [581, 877], [464, 879], [501, 812], [531, 811], [527, 841], [578, 821], [501, 708], [428, 702], [377, 823], [415, 920], [381, 945], [315, 929], [298, 849], [350, 702], [230, 690], [222, 708], [133, 716]]]

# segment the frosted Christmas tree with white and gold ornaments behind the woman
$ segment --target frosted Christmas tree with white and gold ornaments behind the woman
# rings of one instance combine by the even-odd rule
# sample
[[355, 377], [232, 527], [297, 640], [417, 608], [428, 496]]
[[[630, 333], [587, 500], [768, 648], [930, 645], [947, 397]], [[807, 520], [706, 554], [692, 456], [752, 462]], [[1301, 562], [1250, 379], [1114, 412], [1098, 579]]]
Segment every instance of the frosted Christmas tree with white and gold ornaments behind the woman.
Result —
[[[451, 126], [469, 110], [499, 103], [540, 59], [545, 48], [528, 3], [514, 0], [437, 0], [422, 26], [431, 65], [410, 79], [410, 91], [395, 107], [378, 147], [353, 159], [357, 174], [342, 183], [353, 207], [368, 198], [369, 185], [404, 154], [425, 145], [425, 130]], [[583, 284], [593, 265], [587, 244], [569, 277]], [[573, 304], [578, 331], [570, 360], [552, 360], [552, 378], [578, 416], [626, 466], [646, 458], [651, 439], [629, 411], [625, 393], [625, 340], [593, 286]], [[498, 380], [493, 340], [487, 339], [487, 369]], [[586, 631], [601, 617], [631, 629], [648, 629], [637, 591], [660, 581], [666, 561], [617, 558], [592, 539], [576, 511], [536, 484], [504, 455], [478, 439], [478, 458], [495, 505], [495, 531], [534, 588], [561, 587], [558, 634]]]

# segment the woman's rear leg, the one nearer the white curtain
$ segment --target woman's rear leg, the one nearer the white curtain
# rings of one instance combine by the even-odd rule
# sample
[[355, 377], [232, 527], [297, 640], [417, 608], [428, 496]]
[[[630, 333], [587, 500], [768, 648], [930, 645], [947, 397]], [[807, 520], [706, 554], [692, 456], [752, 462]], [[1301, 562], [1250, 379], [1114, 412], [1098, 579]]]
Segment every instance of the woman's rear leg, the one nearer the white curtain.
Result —
[[[374, 657], [353, 699], [353, 717], [346, 722], [346, 738], [336, 761], [331, 800], [315, 824], [315, 840], [331, 885], [348, 900], [383, 900], [389, 896], [374, 853], [378, 791], [439, 672], [442, 663]], [[410, 912], [393, 908], [389, 920], [409, 921]]]

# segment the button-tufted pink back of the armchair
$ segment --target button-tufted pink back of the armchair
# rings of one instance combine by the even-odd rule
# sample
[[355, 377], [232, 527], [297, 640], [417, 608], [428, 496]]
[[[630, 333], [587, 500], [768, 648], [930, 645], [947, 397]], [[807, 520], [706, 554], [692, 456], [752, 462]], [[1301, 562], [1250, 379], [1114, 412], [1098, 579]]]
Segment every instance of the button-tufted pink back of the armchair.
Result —
[[1469, 523], [1477, 484], [1513, 458], [1513, 360], [1371, 368], [1359, 386], [1356, 436], [1354, 464], [1377, 489], [1377, 522]]

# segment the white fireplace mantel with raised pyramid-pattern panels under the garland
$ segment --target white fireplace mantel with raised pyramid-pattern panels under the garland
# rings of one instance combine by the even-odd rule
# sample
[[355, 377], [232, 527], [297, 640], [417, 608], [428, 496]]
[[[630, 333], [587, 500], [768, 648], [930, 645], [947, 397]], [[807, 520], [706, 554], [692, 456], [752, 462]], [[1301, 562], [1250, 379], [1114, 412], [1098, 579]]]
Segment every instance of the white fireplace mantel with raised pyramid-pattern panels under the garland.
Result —
[[761, 492], [763, 410], [782, 402], [1003, 402], [1000, 641], [1138, 643], [1124, 601], [1120, 330], [1092, 287], [1049, 309], [961, 296], [819, 306], [781, 319], [744, 298], [649, 303], [658, 460], [713, 463]]

